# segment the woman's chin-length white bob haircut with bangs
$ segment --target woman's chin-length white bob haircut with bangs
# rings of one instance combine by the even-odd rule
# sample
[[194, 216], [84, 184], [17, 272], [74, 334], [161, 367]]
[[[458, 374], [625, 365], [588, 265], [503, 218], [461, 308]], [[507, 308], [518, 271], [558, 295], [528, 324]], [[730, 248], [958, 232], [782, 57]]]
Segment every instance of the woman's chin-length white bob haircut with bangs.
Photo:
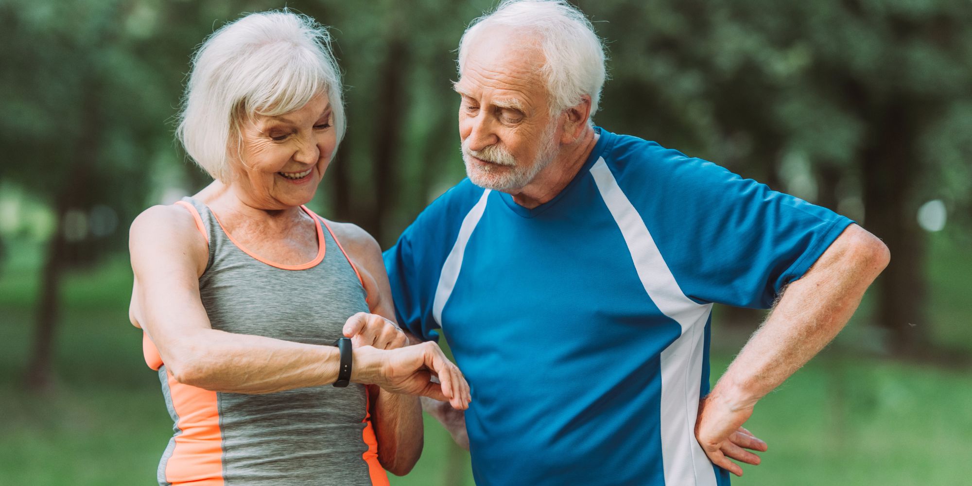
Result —
[[327, 29], [287, 9], [250, 14], [214, 32], [192, 56], [176, 135], [195, 163], [227, 183], [228, 149], [239, 143], [242, 121], [293, 112], [321, 93], [340, 143], [341, 75]]

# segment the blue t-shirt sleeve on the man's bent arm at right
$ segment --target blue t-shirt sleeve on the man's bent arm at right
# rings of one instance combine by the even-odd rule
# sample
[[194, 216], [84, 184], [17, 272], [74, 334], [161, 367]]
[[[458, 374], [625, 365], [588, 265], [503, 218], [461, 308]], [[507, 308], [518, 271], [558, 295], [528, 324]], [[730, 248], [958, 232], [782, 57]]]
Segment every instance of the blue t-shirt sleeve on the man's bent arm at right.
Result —
[[712, 162], [649, 152], [622, 188], [682, 293], [697, 301], [769, 308], [853, 223]]

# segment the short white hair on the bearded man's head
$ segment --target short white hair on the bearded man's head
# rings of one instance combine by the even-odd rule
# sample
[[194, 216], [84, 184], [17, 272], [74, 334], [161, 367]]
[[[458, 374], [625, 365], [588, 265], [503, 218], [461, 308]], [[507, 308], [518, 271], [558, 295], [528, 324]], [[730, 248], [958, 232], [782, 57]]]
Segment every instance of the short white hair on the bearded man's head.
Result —
[[472, 20], [459, 41], [459, 75], [469, 46], [488, 25], [512, 27], [538, 37], [544, 62], [540, 73], [550, 93], [550, 110], [559, 113], [591, 97], [591, 118], [598, 111], [607, 76], [605, 50], [594, 26], [565, 0], [504, 0], [495, 11]]

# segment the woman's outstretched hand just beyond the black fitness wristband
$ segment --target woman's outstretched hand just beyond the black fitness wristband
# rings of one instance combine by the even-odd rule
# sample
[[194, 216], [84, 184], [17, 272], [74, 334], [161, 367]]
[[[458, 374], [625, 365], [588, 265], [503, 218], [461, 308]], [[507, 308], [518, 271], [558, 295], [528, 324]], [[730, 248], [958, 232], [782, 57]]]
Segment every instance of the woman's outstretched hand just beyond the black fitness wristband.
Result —
[[351, 381], [356, 383], [448, 401], [457, 410], [469, 408], [469, 383], [433, 341], [388, 351], [371, 346], [355, 348], [351, 373]]

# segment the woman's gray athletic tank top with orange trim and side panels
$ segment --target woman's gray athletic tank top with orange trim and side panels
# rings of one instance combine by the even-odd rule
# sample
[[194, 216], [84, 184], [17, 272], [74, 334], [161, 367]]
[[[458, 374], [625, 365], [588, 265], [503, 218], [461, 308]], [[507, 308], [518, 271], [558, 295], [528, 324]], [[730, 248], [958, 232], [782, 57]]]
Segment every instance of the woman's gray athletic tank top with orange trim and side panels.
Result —
[[[209, 242], [199, 293], [214, 330], [330, 345], [351, 315], [367, 312], [356, 269], [327, 224], [306, 208], [319, 252], [288, 266], [259, 260], [231, 240], [205, 204], [183, 201]], [[158, 466], [160, 485], [388, 484], [363, 385], [246, 395], [179, 384], [164, 364], [158, 376], [174, 424]]]

